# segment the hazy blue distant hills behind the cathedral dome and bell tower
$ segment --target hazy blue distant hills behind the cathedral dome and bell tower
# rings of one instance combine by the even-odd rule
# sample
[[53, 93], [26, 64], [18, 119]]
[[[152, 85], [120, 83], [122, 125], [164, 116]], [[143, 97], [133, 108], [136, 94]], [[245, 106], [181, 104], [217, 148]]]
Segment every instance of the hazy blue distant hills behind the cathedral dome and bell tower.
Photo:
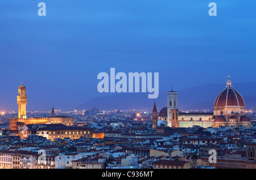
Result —
[[[256, 106], [256, 82], [232, 84], [244, 98], [246, 108]], [[225, 84], [205, 84], [182, 89], [178, 92], [178, 107], [180, 110], [213, 109], [213, 103]], [[176, 91], [176, 89], [174, 89]], [[148, 93], [119, 93], [93, 98], [76, 107], [76, 109], [91, 109], [93, 106], [101, 110], [152, 109], [154, 99], [147, 98]], [[155, 99], [158, 110], [167, 105], [166, 92], [159, 92]]]

